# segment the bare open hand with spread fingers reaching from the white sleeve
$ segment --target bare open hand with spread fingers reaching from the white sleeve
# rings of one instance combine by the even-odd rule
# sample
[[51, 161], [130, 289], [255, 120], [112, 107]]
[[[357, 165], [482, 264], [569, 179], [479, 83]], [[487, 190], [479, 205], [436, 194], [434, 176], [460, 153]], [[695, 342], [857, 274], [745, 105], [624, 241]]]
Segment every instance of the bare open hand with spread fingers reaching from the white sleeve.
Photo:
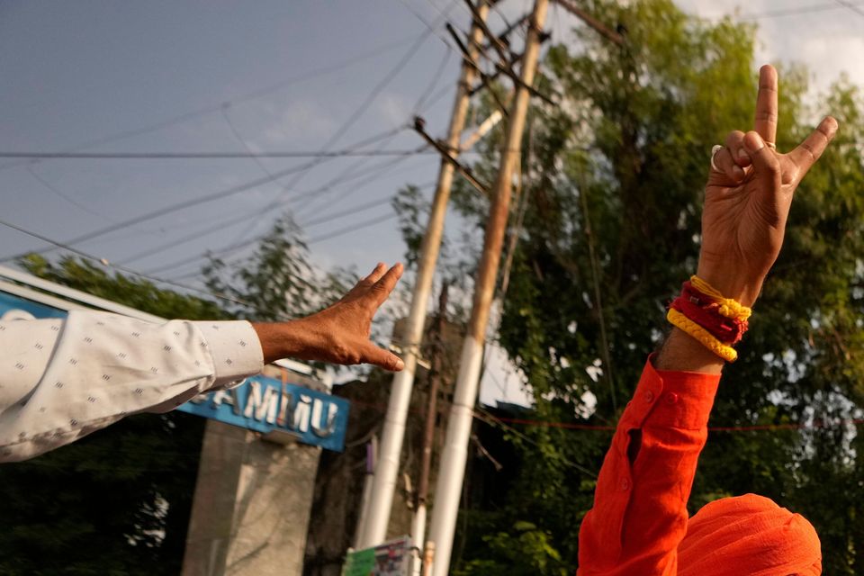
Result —
[[373, 364], [400, 371], [404, 367], [401, 358], [375, 346], [369, 336], [375, 312], [390, 296], [401, 275], [401, 264], [389, 270], [378, 264], [372, 274], [320, 312], [291, 322], [253, 325], [265, 361], [293, 356], [341, 365]]

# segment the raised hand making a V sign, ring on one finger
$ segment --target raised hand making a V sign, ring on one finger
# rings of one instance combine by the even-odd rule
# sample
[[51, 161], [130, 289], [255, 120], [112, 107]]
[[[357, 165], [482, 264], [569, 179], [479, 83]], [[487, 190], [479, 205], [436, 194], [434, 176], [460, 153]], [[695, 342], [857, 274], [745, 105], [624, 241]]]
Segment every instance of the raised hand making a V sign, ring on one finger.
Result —
[[763, 66], [753, 130], [729, 134], [705, 189], [698, 275], [748, 306], [777, 260], [798, 184], [837, 131], [837, 121], [826, 117], [782, 154], [774, 146], [778, 117], [777, 70]]

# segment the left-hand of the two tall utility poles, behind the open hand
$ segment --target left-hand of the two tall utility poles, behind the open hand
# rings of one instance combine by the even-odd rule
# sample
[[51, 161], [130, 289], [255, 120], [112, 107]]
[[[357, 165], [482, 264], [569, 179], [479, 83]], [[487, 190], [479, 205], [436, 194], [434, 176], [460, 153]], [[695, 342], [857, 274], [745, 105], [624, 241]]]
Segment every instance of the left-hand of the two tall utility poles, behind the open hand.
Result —
[[[478, 0], [477, 12], [485, 20], [489, 14], [489, 4]], [[477, 48], [482, 45], [482, 26], [475, 21], [471, 27], [471, 38], [468, 47], [476, 60]], [[453, 156], [459, 153], [460, 136], [464, 129], [468, 103], [477, 71], [468, 62], [463, 62], [462, 74], [456, 89], [453, 115], [450, 117], [450, 127], [447, 131], [447, 147]], [[455, 166], [446, 158], [441, 159], [438, 170], [438, 184], [417, 268], [417, 280], [411, 297], [411, 309], [405, 327], [405, 352], [402, 360], [405, 368], [393, 377], [390, 402], [384, 418], [381, 439], [381, 450], [375, 464], [372, 482], [371, 500], [366, 510], [365, 518], [360, 518], [361, 532], [358, 538], [360, 547], [381, 544], [387, 535], [387, 525], [390, 523], [390, 511], [393, 502], [393, 491], [396, 489], [396, 478], [399, 473], [399, 461], [402, 451], [402, 440], [405, 437], [405, 420], [408, 417], [411, 389], [414, 385], [414, 374], [417, 370], [420, 344], [423, 339], [423, 329], [426, 325], [426, 312], [438, 251], [441, 247], [441, 237], [444, 231], [444, 220], [447, 202], [450, 199], [450, 188], [453, 184]], [[413, 535], [412, 535], [413, 536]], [[415, 542], [422, 546], [422, 542]]]

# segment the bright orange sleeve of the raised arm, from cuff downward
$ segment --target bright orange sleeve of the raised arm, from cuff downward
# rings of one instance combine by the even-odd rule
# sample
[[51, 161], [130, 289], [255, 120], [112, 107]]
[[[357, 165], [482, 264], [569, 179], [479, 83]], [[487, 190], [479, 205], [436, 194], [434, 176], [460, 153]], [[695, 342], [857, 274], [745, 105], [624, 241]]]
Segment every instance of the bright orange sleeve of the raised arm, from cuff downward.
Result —
[[719, 375], [645, 365], [582, 521], [579, 576], [675, 576]]

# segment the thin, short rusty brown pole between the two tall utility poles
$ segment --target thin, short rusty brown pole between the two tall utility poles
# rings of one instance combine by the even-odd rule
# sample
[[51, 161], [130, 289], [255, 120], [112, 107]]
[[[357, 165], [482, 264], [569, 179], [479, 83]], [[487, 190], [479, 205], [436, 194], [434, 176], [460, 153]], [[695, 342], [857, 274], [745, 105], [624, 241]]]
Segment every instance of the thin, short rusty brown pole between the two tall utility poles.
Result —
[[[426, 429], [423, 432], [423, 452], [420, 460], [420, 475], [417, 482], [417, 503], [414, 507], [413, 526], [411, 527], [411, 538], [415, 546], [422, 549], [426, 537], [426, 501], [429, 495], [429, 475], [432, 472], [432, 446], [435, 444], [435, 424], [438, 415], [438, 389], [441, 386], [442, 371], [444, 367], [444, 329], [447, 311], [447, 293], [450, 286], [445, 282], [441, 286], [441, 294], [438, 296], [438, 313], [435, 326], [432, 329], [435, 338], [434, 350], [431, 357], [431, 368], [429, 369], [429, 397], [426, 410]], [[422, 554], [424, 560], [428, 554], [435, 554], [434, 550]], [[419, 555], [416, 558], [419, 561]], [[420, 574], [420, 563], [414, 566], [415, 576]]]

